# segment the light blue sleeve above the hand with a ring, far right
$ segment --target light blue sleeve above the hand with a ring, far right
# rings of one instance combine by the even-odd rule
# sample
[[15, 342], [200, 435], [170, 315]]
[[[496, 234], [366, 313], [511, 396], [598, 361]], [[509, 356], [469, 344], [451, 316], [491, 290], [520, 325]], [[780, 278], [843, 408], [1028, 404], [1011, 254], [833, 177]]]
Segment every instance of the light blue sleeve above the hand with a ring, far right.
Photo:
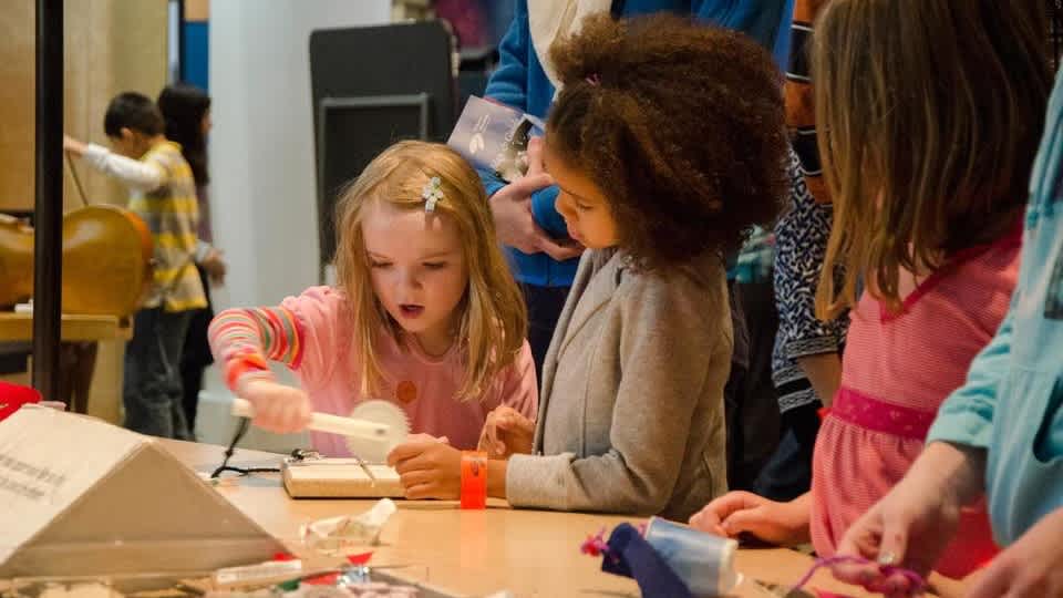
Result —
[[993, 430], [993, 412], [1000, 381], [1011, 362], [1012, 320], [1020, 291], [1011, 297], [1011, 307], [997, 336], [974, 358], [967, 382], [945, 400], [930, 427], [927, 442], [946, 441], [978, 448], [988, 448]]

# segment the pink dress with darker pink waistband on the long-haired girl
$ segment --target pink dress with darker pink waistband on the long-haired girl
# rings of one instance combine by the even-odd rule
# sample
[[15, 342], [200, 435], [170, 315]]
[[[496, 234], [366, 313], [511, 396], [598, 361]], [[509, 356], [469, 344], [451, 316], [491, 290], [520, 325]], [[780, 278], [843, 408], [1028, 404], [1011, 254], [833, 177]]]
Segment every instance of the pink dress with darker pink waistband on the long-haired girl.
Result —
[[[906, 298], [899, 315], [868, 293], [852, 311], [842, 385], [813, 456], [811, 526], [819, 556], [835, 553], [846, 529], [922, 451], [938, 408], [963, 384], [1008, 311], [1020, 244], [1020, 235], [1009, 235], [954, 256]], [[963, 511], [935, 569], [960, 578], [997, 551], [981, 499]]]

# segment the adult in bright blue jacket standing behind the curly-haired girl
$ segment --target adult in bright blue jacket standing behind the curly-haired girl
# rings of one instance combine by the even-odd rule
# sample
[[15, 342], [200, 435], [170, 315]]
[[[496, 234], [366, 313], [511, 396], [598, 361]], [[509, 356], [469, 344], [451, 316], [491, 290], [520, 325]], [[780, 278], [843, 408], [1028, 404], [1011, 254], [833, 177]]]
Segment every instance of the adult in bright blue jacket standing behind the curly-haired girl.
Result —
[[[550, 42], [578, 27], [584, 14], [611, 10], [634, 17], [662, 10], [742, 31], [772, 50], [784, 65], [789, 45], [793, 0], [517, 0], [509, 31], [499, 45], [499, 63], [485, 95], [497, 102], [546, 117], [556, 87], [546, 60]], [[557, 188], [545, 175], [507, 185], [481, 171], [491, 197], [498, 236], [507, 246], [515, 276], [525, 290], [530, 320], [529, 343], [536, 369], [543, 360], [558, 315], [576, 274], [582, 247], [568, 238], [565, 221], [554, 208]]]

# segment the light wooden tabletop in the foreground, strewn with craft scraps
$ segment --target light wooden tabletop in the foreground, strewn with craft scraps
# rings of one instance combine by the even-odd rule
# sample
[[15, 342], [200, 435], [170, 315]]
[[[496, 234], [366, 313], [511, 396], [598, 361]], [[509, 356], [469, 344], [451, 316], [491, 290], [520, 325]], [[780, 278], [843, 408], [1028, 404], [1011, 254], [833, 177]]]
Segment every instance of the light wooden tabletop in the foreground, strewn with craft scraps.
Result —
[[[161, 441], [183, 463], [210, 472], [221, 461], [223, 448], [179, 441]], [[233, 463], [276, 466], [281, 456], [257, 451], [237, 451]], [[337, 515], [357, 514], [373, 501], [291, 499], [278, 475], [240, 478], [217, 491], [270, 534], [290, 546], [298, 544], [300, 524]], [[460, 511], [454, 502], [398, 501], [395, 513], [381, 536], [373, 563], [414, 565], [432, 586], [468, 596], [486, 596], [508, 589], [516, 597], [638, 596], [634, 581], [599, 570], [600, 559], [579, 554], [588, 534], [611, 529], [634, 517], [512, 509], [492, 502], [486, 511]], [[739, 550], [737, 569], [761, 582], [791, 585], [804, 575], [812, 559], [782, 549]], [[413, 574], [414, 577], [417, 573]], [[812, 587], [849, 596], [867, 596], [859, 588], [818, 571]], [[772, 594], [752, 581], [739, 586], [735, 596], [766, 598]]]

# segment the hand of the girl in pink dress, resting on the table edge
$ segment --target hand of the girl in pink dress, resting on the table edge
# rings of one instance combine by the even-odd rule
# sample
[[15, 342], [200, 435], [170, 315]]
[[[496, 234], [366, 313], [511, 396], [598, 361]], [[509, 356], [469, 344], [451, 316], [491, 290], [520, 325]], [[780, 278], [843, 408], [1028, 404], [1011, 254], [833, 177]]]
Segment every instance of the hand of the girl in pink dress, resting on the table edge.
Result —
[[723, 537], [749, 533], [789, 546], [808, 539], [808, 503], [802, 497], [776, 503], [749, 492], [729, 492], [690, 518], [691, 527]]

